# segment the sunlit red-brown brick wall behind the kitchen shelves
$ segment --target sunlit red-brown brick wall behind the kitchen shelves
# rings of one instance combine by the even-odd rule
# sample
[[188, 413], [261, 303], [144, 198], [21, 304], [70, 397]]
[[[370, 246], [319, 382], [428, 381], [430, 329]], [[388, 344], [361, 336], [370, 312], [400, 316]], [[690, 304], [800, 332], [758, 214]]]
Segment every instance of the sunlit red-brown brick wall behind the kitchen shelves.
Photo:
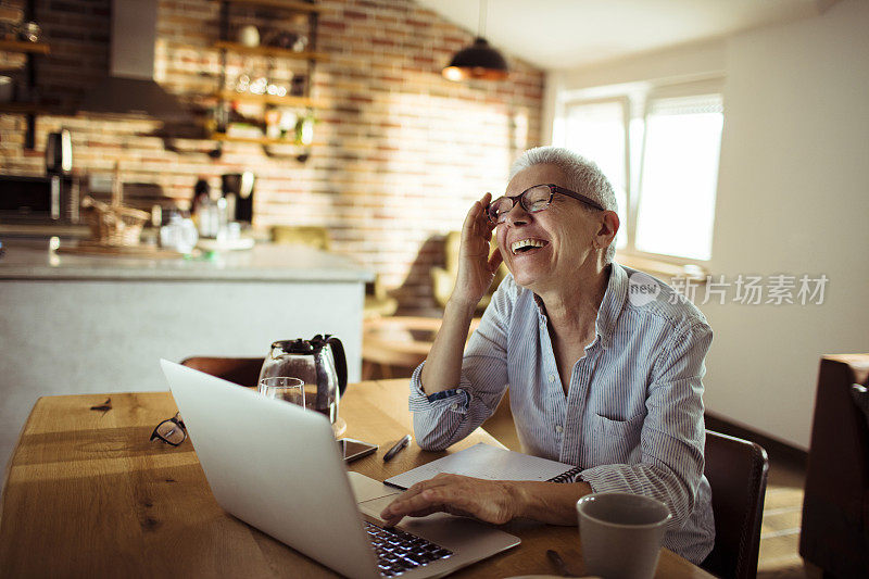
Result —
[[[21, 2], [8, 1], [8, 4]], [[473, 34], [410, 0], [323, 0], [312, 96], [324, 103], [310, 159], [269, 156], [257, 144], [161, 138], [151, 119], [43, 115], [46, 134], [73, 135], [76, 169], [110, 172], [121, 163], [126, 182], [156, 184], [162, 202], [186, 206], [199, 176], [219, 188], [224, 173], [256, 175], [255, 225], [328, 227], [337, 252], [380, 274], [404, 310], [432, 305], [429, 267], [442, 260], [439, 240], [462, 225], [469, 204], [504, 187], [509, 161], [538, 144], [543, 74], [507, 54], [507, 81], [455, 84], [440, 68]], [[161, 0], [156, 79], [191, 106], [218, 83], [219, 2]], [[74, 110], [109, 66], [109, 0], [37, 0], [37, 18], [52, 53], [40, 56], [42, 100]], [[242, 10], [236, 18], [265, 28], [274, 11]], [[292, 20], [279, 26], [295, 25]], [[12, 59], [12, 58], [8, 58]], [[264, 66], [262, 59], [229, 60], [235, 71]], [[275, 76], [301, 64], [274, 61]], [[0, 116], [3, 173], [40, 174], [39, 152], [23, 150], [24, 117]], [[175, 128], [175, 135], [196, 136]], [[130, 199], [150, 206], [154, 199]]]

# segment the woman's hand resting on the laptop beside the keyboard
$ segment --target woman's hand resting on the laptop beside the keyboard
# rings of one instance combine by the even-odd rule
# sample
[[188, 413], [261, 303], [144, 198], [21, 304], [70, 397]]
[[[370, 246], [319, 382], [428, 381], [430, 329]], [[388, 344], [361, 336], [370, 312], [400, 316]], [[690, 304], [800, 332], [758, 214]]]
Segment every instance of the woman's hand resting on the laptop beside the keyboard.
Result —
[[444, 512], [502, 525], [518, 512], [513, 491], [509, 481], [441, 474], [407, 489], [380, 513], [380, 517], [391, 527], [404, 517]]

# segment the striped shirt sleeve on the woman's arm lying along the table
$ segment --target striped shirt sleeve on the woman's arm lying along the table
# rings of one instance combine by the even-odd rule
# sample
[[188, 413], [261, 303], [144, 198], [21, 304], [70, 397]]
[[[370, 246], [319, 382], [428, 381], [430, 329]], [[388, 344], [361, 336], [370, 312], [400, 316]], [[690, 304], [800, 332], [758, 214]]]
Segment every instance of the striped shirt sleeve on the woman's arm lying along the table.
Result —
[[640, 431], [640, 462], [584, 469], [579, 479], [595, 492], [631, 492], [665, 502], [672, 514], [669, 528], [681, 528], [691, 515], [703, 477], [704, 358], [711, 329], [692, 320], [677, 328], [653, 369], [646, 416]]

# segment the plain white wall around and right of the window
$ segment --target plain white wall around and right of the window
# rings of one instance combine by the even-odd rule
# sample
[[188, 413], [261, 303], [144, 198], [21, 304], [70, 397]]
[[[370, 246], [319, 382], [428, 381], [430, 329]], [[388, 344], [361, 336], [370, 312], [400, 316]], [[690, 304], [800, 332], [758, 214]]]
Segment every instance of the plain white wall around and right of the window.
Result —
[[[869, 2], [704, 45], [554, 74], [559, 91], [723, 72], [709, 268], [826, 274], [823, 305], [704, 305], [710, 412], [808, 448], [818, 358], [869, 351]], [[557, 104], [551, 102], [550, 110]]]

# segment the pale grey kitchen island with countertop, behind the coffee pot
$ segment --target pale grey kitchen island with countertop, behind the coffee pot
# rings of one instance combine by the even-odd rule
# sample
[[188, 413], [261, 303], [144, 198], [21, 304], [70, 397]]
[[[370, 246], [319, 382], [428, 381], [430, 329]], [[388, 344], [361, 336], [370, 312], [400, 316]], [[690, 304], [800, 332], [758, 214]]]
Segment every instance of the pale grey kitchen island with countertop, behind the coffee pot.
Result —
[[13, 241], [0, 257], [0, 464], [39, 397], [167, 390], [161, 357], [264, 356], [275, 340], [332, 333], [358, 381], [373, 277], [305, 246], [148, 260]]

